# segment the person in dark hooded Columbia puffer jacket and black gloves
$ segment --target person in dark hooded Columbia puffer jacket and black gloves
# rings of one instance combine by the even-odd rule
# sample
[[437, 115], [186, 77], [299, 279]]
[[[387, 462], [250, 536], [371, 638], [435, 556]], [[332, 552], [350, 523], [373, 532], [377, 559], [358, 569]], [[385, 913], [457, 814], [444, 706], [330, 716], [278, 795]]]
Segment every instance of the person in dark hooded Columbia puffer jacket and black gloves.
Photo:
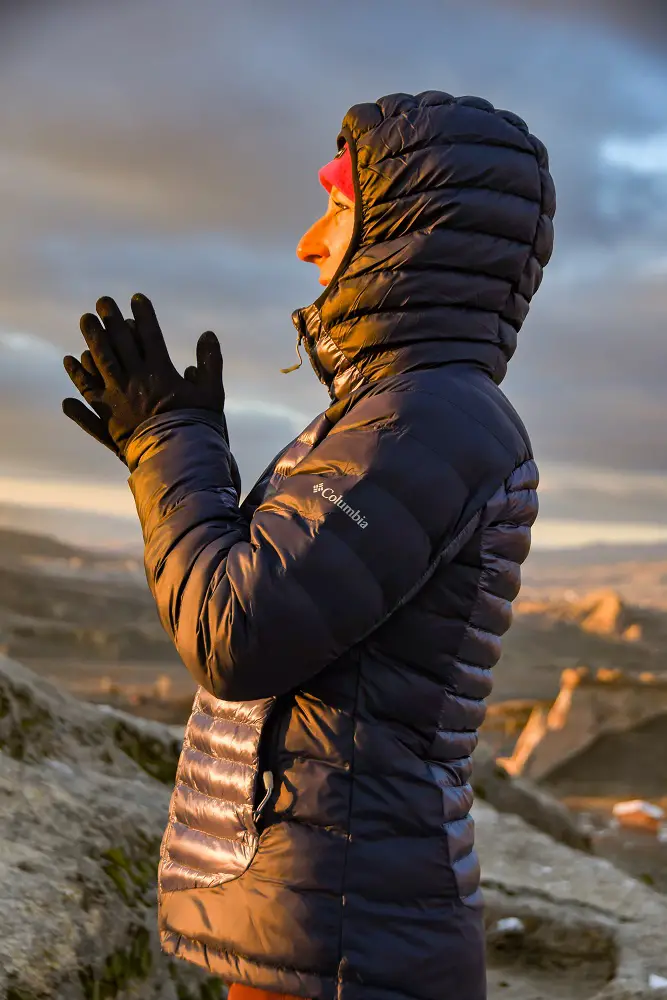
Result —
[[298, 249], [325, 287], [293, 313], [329, 405], [243, 502], [217, 338], [181, 376], [144, 296], [82, 317], [65, 366], [88, 406], [63, 408], [127, 464], [198, 685], [164, 951], [232, 1000], [482, 1000], [471, 755], [538, 486], [500, 383], [554, 184], [526, 123], [477, 97], [355, 105], [337, 148]]

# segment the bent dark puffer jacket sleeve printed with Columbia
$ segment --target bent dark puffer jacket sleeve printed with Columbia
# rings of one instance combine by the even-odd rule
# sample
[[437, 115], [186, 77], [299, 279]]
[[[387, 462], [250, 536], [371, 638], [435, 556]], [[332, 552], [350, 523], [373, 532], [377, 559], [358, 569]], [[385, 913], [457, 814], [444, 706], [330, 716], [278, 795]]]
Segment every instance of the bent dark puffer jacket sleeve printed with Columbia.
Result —
[[241, 516], [221, 425], [153, 417], [128, 447], [144, 563], [162, 624], [217, 698], [281, 694], [372, 632], [460, 528], [453, 465], [362, 399]]

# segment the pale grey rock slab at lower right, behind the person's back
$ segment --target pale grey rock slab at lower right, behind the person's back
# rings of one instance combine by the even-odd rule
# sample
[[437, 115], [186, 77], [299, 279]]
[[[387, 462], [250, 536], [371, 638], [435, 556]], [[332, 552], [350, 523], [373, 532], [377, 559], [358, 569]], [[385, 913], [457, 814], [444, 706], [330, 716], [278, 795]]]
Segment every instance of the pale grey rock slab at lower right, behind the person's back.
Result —
[[667, 902], [607, 860], [483, 802], [474, 809], [486, 898], [489, 995], [664, 1000]]

